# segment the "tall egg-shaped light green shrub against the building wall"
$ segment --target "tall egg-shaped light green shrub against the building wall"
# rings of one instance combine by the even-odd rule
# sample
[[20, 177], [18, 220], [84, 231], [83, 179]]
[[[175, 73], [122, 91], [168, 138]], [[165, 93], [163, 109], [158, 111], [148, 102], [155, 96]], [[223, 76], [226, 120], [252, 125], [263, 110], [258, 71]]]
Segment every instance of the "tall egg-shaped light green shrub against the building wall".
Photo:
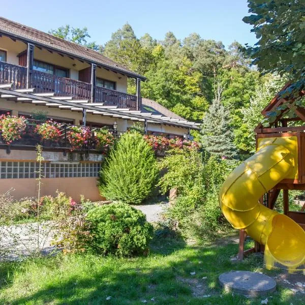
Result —
[[153, 149], [138, 133], [126, 133], [110, 150], [100, 173], [101, 195], [139, 204], [151, 193], [158, 176]]

